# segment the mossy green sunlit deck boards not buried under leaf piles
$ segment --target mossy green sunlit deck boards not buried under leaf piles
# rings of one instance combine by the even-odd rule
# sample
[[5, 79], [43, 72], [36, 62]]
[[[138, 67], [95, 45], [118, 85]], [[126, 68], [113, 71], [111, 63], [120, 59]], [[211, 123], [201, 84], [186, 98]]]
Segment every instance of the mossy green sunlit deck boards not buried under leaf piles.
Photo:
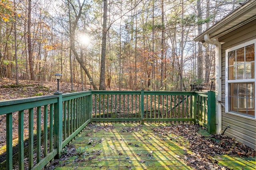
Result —
[[[62, 158], [58, 160], [58, 164], [54, 163], [52, 168], [54, 167], [55, 170], [195, 169], [188, 164], [189, 155], [192, 154], [192, 151], [186, 147], [189, 146], [188, 140], [174, 134], [160, 136], [152, 130], [158, 126], [164, 125], [100, 123], [88, 126], [68, 147], [64, 148]], [[255, 157], [237, 158], [219, 155], [216, 156], [216, 160], [218, 165], [230, 169], [255, 170]]]

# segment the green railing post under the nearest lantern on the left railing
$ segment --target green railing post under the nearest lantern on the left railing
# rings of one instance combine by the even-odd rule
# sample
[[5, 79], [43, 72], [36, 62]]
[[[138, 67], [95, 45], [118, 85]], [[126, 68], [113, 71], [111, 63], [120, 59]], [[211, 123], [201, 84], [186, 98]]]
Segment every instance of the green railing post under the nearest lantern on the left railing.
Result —
[[59, 159], [62, 152], [62, 93], [56, 92], [58, 102], [54, 103], [54, 148], [57, 149], [56, 159]]

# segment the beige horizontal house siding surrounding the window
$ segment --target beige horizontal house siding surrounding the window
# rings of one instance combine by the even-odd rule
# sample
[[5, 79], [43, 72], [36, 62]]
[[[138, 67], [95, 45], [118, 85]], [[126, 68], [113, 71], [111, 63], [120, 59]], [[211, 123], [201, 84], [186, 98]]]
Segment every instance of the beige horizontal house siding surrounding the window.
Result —
[[[218, 39], [222, 44], [222, 103], [225, 103], [225, 50], [256, 38], [256, 20], [226, 34]], [[225, 112], [222, 107], [222, 132], [237, 141], [256, 148], [256, 120]]]

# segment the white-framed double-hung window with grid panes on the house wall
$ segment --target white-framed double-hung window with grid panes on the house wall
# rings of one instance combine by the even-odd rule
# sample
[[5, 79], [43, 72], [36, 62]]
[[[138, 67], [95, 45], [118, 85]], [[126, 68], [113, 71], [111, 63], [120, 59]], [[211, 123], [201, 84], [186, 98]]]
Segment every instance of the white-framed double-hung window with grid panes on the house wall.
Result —
[[226, 112], [255, 117], [256, 39], [226, 50]]

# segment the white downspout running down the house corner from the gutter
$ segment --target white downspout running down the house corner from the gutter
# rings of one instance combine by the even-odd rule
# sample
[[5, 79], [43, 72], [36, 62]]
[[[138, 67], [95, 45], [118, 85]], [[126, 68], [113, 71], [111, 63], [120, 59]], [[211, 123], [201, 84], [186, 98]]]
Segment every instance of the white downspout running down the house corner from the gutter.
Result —
[[222, 98], [222, 77], [221, 77], [221, 43], [215, 40], [211, 40], [209, 34], [204, 35], [204, 41], [209, 44], [213, 44], [216, 46], [216, 84], [215, 84], [215, 91], [216, 91], [216, 132], [217, 134], [221, 133], [222, 129], [222, 106], [221, 106], [221, 98]]

